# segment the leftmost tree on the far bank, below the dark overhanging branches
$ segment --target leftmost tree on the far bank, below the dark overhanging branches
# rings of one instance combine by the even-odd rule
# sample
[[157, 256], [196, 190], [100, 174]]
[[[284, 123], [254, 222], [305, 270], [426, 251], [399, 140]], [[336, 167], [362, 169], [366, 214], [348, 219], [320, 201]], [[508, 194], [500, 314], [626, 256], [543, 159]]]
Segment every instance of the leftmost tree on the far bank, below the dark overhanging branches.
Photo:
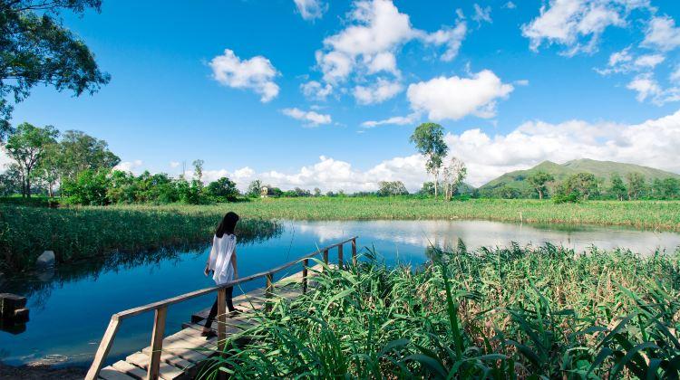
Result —
[[57, 136], [59, 131], [52, 126], [38, 128], [29, 123], [22, 123], [7, 138], [5, 151], [7, 156], [16, 162], [16, 170], [22, 184], [22, 196], [31, 197], [34, 169], [41, 163], [47, 147], [56, 142]]

